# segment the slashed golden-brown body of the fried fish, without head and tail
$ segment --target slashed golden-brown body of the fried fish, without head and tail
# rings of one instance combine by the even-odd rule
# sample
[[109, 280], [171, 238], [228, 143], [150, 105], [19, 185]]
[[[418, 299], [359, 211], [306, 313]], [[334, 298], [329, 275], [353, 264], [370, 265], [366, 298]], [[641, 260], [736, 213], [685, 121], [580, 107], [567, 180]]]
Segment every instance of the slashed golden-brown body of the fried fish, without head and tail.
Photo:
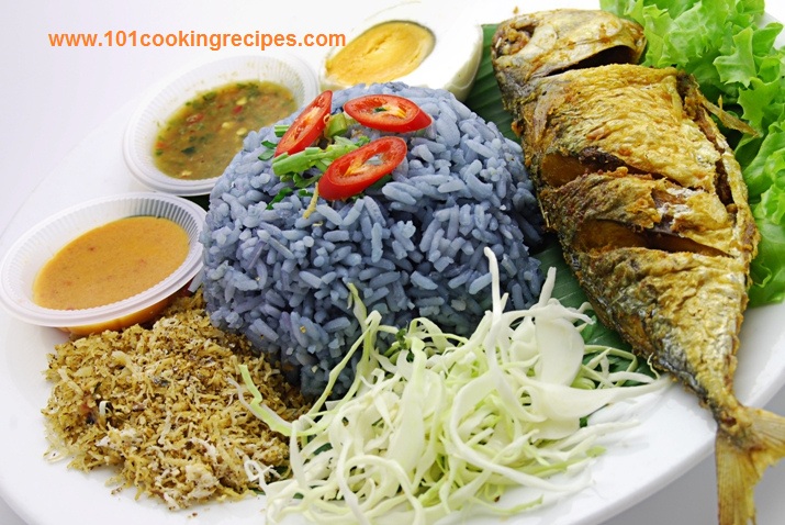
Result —
[[[534, 83], [517, 124], [527, 166], [597, 315], [731, 421], [759, 233], [697, 86], [675, 69], [633, 65]], [[565, 158], [582, 171], [563, 169], [573, 166]]]

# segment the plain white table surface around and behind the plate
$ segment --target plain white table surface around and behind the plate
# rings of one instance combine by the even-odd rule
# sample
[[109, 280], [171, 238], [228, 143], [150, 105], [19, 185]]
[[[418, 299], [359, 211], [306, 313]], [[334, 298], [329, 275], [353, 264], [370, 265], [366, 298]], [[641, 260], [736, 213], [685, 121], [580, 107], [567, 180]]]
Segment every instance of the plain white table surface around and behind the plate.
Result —
[[[29, 0], [5, 5], [0, 21], [0, 228], [35, 186], [52, 172], [69, 152], [110, 115], [127, 109], [154, 82], [183, 63], [216, 52], [189, 48], [54, 48], [47, 33], [137, 30], [139, 32], [254, 31], [281, 33], [340, 33], [352, 20], [377, 9], [372, 2], [313, 0], [276, 2], [253, 0], [136, 0], [105, 2]], [[445, 4], [455, 5], [451, 2]], [[497, 22], [516, 2], [474, 2], [480, 21]], [[527, 4], [522, 0], [522, 4]], [[569, 1], [560, 2], [569, 4]], [[767, 11], [785, 20], [785, 3], [770, 0]], [[354, 4], [356, 9], [347, 9]], [[556, 5], [553, 2], [547, 3]], [[344, 8], [344, 9], [341, 9]], [[452, 9], [452, 8], [451, 8]], [[365, 10], [365, 11], [363, 11]], [[338, 15], [339, 14], [339, 15]], [[352, 19], [352, 16], [355, 16]], [[217, 52], [221, 53], [221, 52]], [[324, 49], [305, 49], [304, 58], [317, 60]], [[63, 183], [67, 183], [64, 181]], [[785, 414], [785, 390], [769, 404]], [[0, 432], [3, 432], [0, 429]], [[677, 446], [677, 444], [674, 444]], [[0, 471], [2, 466], [0, 465]], [[67, 490], [46, 488], [44, 490]], [[785, 466], [770, 469], [756, 490], [758, 523], [782, 523], [785, 516]], [[91, 525], [90, 503], [85, 502], [80, 522]], [[707, 458], [682, 478], [646, 501], [610, 518], [609, 525], [716, 523], [715, 469]], [[25, 525], [0, 499], [0, 524]], [[43, 524], [53, 525], [53, 524]]]

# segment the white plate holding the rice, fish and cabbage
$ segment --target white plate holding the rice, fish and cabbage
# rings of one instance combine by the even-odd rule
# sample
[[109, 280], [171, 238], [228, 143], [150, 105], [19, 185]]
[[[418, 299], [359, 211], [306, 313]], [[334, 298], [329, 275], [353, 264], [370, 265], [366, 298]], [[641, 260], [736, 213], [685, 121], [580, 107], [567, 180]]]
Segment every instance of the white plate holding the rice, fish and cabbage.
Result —
[[[582, 0], [562, 3], [595, 5]], [[85, 137], [33, 191], [0, 237], [0, 253], [4, 253], [26, 226], [37, 223], [42, 214], [103, 194], [145, 189], [127, 177], [119, 148], [134, 108], [135, 104], [127, 104]], [[784, 316], [785, 304], [756, 309], [748, 315], [736, 379], [737, 392], [743, 402], [761, 405], [785, 381], [785, 332], [780, 327]], [[156, 501], [134, 500], [133, 490], [113, 495], [104, 485], [106, 473], [83, 474], [67, 469], [65, 462], [46, 462], [41, 410], [46, 404], [49, 386], [42, 371], [46, 368], [46, 354], [61, 338], [54, 329], [0, 316], [0, 493], [25, 522], [42, 525], [77, 520], [112, 525], [263, 523], [261, 498], [171, 513]], [[644, 407], [642, 416], [638, 427], [620, 436], [621, 444], [593, 465], [595, 483], [592, 488], [552, 507], [525, 513], [504, 523], [601, 523], [654, 493], [710, 454], [714, 422], [695, 399], [681, 389], [669, 389], [657, 399], [654, 406]], [[514, 498], [515, 492], [511, 496]], [[464, 522], [457, 515], [451, 523]]]

